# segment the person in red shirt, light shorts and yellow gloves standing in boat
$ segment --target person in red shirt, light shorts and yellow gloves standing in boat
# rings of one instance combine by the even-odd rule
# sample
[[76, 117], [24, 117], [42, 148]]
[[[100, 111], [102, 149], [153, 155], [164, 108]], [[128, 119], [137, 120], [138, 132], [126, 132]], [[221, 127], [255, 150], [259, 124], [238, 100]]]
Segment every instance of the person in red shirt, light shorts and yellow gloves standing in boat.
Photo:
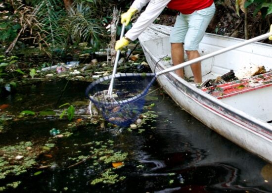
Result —
[[[148, 4], [147, 4], [148, 3]], [[147, 4], [133, 27], [116, 42], [115, 49], [122, 49], [137, 37], [160, 15], [165, 7], [179, 11], [170, 34], [171, 54], [174, 65], [184, 61], [184, 50], [189, 60], [199, 57], [198, 45], [214, 16], [214, 0], [135, 0], [129, 10], [121, 15], [121, 23], [127, 26], [132, 16]], [[194, 82], [202, 82], [201, 62], [191, 65]], [[176, 73], [184, 78], [183, 69]]]

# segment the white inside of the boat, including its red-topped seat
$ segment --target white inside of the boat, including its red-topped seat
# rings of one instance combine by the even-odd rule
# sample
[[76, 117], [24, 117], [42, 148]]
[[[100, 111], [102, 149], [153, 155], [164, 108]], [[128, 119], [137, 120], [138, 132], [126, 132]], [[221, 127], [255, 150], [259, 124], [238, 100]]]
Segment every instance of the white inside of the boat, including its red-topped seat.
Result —
[[[169, 27], [151, 26], [141, 36], [146, 49], [165, 68], [173, 65], [168, 39], [169, 30], [171, 30]], [[199, 45], [199, 53], [200, 55], [208, 54], [240, 42], [241, 40], [236, 38], [206, 34]], [[216, 86], [203, 87], [201, 90], [272, 125], [271, 45], [252, 43], [203, 60], [201, 66], [203, 82], [216, 81], [230, 72], [233, 72], [235, 77], [236, 74], [241, 74], [239, 79], [236, 77], [236, 80], [228, 82], [219, 81]], [[261, 69], [259, 74], [246, 74], [246, 70], [256, 67]], [[184, 68], [184, 76], [188, 82], [193, 82], [190, 66]]]

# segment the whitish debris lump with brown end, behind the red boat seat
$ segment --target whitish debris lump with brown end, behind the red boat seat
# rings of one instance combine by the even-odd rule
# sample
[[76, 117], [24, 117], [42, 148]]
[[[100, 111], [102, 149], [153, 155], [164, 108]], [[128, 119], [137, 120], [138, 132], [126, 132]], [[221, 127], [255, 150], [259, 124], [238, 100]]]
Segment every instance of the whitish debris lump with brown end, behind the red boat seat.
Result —
[[241, 80], [243, 78], [249, 78], [251, 76], [255, 76], [258, 74], [266, 73], [266, 69], [264, 66], [257, 66], [255, 64], [250, 64], [243, 69], [240, 69], [235, 72], [235, 76]]

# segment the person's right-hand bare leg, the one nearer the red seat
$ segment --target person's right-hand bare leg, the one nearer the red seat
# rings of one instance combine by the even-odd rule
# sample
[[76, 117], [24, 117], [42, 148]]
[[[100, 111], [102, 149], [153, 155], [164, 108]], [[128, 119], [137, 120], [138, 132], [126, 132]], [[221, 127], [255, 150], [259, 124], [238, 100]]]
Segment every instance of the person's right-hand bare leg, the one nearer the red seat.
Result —
[[[191, 60], [200, 56], [197, 50], [192, 50], [192, 51], [186, 50], [186, 54], [188, 56], [188, 60]], [[201, 62], [199, 61], [194, 64], [191, 64], [191, 69], [194, 76], [194, 82], [202, 83]]]

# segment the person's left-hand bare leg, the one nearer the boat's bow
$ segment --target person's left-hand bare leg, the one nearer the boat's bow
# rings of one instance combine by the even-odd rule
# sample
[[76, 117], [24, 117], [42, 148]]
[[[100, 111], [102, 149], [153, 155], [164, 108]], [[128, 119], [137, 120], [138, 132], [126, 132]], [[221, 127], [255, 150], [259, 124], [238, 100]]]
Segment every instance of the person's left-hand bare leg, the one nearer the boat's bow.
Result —
[[[182, 63], [184, 61], [183, 44], [171, 43], [171, 54], [174, 66]], [[178, 74], [181, 78], [184, 78], [183, 68], [176, 70], [176, 74]]]

